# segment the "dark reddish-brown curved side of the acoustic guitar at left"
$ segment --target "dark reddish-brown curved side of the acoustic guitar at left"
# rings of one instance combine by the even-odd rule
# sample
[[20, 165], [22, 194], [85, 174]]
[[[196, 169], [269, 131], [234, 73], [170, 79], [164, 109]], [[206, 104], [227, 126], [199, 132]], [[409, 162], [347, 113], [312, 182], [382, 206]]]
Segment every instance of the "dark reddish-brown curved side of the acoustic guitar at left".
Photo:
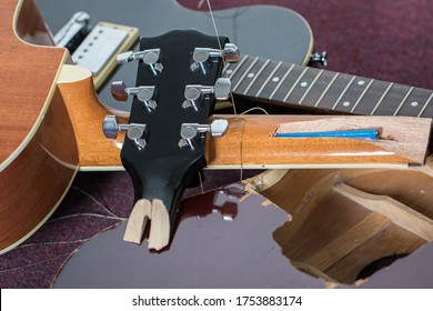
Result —
[[0, 173], [0, 253], [23, 242], [48, 220], [77, 170], [72, 126], [57, 91], [31, 142]]

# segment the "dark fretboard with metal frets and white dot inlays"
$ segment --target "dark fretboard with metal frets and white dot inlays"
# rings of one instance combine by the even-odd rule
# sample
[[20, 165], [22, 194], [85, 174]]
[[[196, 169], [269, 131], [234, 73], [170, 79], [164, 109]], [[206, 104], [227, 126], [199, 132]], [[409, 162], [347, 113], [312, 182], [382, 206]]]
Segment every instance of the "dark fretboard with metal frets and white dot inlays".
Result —
[[433, 91], [244, 56], [226, 66], [233, 93], [280, 106], [364, 116], [433, 117]]

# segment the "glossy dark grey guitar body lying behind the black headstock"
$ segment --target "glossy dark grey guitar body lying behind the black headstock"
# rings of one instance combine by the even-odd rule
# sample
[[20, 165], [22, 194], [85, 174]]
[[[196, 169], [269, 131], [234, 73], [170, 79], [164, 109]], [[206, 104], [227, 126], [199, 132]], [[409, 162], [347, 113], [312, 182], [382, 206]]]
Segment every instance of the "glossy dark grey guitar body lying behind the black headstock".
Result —
[[[37, 0], [37, 3], [53, 33], [74, 12], [83, 10], [90, 14], [92, 23], [110, 21], [131, 24], [139, 28], [142, 37], [157, 37], [173, 29], [197, 29], [215, 36], [208, 12], [188, 10], [172, 0]], [[294, 11], [274, 6], [252, 6], [215, 11], [214, 14], [219, 34], [226, 36], [235, 43], [241, 56], [259, 56], [299, 64], [309, 60], [313, 46], [311, 29]], [[107, 86], [115, 80], [133, 86], [135, 73], [133, 66], [123, 66], [107, 81]], [[123, 111], [131, 109], [132, 100], [117, 102], [109, 87], [102, 88], [99, 97], [108, 107]]]

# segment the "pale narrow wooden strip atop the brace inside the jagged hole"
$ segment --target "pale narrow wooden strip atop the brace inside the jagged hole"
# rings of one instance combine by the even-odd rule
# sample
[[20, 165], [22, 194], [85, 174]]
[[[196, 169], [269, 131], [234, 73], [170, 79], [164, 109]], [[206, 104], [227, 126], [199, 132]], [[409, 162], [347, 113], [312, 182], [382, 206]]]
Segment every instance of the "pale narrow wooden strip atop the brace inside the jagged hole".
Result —
[[333, 190], [358, 204], [389, 218], [395, 224], [425, 241], [433, 240], [433, 220], [405, 204], [390, 197], [370, 194], [344, 183], [335, 184]]

